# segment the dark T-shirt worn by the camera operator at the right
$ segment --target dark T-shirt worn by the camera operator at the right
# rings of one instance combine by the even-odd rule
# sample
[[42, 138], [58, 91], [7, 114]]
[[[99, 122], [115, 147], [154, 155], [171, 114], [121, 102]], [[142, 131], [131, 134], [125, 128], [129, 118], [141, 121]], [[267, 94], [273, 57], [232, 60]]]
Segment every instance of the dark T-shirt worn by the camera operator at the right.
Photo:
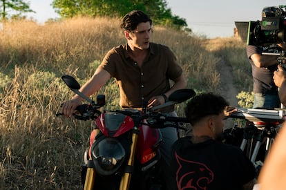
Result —
[[254, 79], [254, 93], [262, 93], [275, 95], [278, 94], [278, 88], [273, 81], [273, 73], [277, 70], [277, 64], [268, 68], [258, 68], [250, 59], [251, 55], [258, 53], [281, 53], [283, 50], [277, 44], [269, 44], [265, 46], [247, 46], [247, 57], [252, 68], [252, 77]]

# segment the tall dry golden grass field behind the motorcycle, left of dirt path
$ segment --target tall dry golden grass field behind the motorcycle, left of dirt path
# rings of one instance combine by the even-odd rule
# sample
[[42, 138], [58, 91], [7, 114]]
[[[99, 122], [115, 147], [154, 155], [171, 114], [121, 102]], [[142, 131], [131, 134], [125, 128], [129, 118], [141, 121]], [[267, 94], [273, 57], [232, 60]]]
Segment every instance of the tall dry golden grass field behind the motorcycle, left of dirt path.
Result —
[[[126, 43], [119, 25], [118, 19], [106, 18], [4, 25], [0, 31], [0, 189], [82, 188], [80, 165], [92, 124], [55, 117], [61, 102], [73, 96], [60, 77], [67, 73], [84, 84], [107, 50]], [[205, 48], [205, 39], [154, 26], [153, 41], [174, 51], [189, 88], [218, 89], [219, 59]], [[106, 109], [119, 108], [113, 79], [99, 93], [106, 95]], [[183, 109], [184, 104], [178, 105], [179, 115]]]

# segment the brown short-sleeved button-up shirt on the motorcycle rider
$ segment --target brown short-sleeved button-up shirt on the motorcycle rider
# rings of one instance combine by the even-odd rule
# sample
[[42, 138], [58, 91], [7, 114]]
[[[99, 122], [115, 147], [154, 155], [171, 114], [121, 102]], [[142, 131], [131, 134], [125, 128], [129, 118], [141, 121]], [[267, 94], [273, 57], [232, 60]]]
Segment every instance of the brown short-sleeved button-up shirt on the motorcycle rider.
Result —
[[[108, 51], [100, 67], [115, 77], [120, 88], [122, 108], [141, 108], [142, 102], [170, 89], [169, 79], [182, 75], [173, 52], [161, 44], [150, 43], [149, 53], [141, 68], [127, 53], [128, 45]], [[173, 111], [173, 106], [162, 111]]]

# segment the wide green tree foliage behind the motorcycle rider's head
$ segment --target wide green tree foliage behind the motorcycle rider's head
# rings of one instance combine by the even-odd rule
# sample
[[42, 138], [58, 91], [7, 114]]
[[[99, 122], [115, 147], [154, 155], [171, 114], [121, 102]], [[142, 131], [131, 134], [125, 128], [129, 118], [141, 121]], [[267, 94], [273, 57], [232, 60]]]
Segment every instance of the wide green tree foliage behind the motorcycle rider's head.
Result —
[[187, 22], [173, 16], [166, 0], [54, 0], [53, 8], [62, 18], [75, 16], [122, 17], [131, 10], [142, 10], [155, 23], [181, 29]]

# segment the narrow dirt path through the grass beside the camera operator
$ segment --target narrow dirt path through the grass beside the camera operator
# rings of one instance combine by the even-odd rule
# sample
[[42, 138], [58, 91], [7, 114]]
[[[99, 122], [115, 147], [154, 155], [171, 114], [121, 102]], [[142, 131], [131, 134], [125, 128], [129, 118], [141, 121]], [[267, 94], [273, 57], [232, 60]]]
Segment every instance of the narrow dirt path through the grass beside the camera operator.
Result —
[[[221, 58], [218, 62], [218, 72], [220, 73], [221, 86], [220, 86], [220, 95], [225, 97], [231, 106], [238, 107], [238, 99], [236, 95], [238, 95], [238, 89], [234, 84], [233, 80], [233, 72], [230, 64], [225, 61], [225, 59]], [[233, 127], [233, 121], [229, 118], [225, 121], [225, 128]]]

